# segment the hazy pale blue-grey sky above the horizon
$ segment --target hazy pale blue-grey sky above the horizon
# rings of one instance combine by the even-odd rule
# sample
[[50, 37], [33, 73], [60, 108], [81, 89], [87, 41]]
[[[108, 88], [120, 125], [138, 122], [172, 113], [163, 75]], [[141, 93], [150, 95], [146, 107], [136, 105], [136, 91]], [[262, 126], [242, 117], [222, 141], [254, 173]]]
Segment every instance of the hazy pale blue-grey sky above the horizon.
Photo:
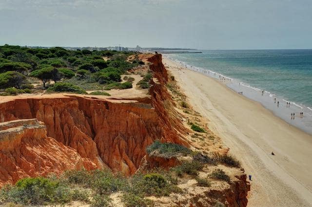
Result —
[[312, 49], [312, 0], [0, 0], [0, 45]]

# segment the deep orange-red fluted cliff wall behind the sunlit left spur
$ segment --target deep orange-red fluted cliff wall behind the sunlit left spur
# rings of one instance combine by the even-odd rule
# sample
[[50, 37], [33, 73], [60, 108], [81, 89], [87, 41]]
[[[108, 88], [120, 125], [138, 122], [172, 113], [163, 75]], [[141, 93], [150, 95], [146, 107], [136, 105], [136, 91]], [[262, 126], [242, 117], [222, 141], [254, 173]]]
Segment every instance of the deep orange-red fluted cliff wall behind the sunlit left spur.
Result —
[[176, 118], [164, 87], [167, 75], [161, 55], [149, 61], [153, 61], [150, 68], [155, 77], [165, 74], [161, 81], [151, 81], [149, 100], [122, 102], [74, 95], [23, 98], [0, 104], [0, 121], [36, 118], [46, 125], [48, 137], [77, 150], [97, 168], [133, 174], [146, 146], [155, 139], [188, 145], [183, 139], [186, 129]]

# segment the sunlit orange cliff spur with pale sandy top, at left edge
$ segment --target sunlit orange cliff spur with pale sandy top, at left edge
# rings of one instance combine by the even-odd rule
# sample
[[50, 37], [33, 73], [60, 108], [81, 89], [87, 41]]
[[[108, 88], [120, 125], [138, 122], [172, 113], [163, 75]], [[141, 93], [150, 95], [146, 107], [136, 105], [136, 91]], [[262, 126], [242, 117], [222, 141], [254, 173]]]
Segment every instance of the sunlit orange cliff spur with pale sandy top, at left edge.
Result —
[[96, 165], [47, 137], [42, 122], [32, 119], [0, 123], [0, 186], [22, 177], [81, 168], [93, 170]]

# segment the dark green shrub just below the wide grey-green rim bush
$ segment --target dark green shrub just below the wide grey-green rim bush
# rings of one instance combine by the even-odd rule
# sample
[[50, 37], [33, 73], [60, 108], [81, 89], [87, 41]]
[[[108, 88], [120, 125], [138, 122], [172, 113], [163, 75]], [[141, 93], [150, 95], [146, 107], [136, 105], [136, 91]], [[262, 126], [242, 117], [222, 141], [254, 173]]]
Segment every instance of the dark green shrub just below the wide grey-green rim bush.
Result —
[[197, 176], [198, 171], [201, 171], [203, 167], [204, 167], [203, 163], [193, 160], [193, 161], [183, 162], [181, 165], [176, 166], [172, 170], [176, 172], [177, 176], [182, 176], [183, 173], [186, 173], [192, 176]]

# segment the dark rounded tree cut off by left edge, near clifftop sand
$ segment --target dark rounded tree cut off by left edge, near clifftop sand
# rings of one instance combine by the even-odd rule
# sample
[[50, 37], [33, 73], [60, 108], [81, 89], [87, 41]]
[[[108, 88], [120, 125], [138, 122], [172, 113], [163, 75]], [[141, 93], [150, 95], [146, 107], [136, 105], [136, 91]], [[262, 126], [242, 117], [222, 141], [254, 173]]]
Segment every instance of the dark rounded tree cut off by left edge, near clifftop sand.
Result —
[[27, 84], [26, 76], [16, 71], [0, 73], [0, 88], [16, 87], [22, 88]]

